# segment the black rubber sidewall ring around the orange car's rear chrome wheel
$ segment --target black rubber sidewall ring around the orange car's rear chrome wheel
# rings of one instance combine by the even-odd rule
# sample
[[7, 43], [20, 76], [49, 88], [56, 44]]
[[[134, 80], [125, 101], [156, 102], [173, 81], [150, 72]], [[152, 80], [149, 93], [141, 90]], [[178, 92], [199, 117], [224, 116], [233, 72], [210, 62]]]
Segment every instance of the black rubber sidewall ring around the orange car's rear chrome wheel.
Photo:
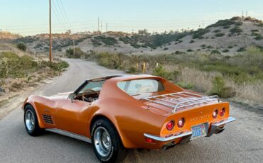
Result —
[[[101, 156], [95, 147], [94, 144], [94, 132], [98, 127], [103, 127], [107, 130], [109, 133], [110, 139], [112, 141], [112, 149], [110, 151], [110, 154], [106, 157]], [[114, 125], [109, 122], [109, 120], [106, 119], [100, 119], [97, 120], [93, 125], [92, 125], [92, 148], [97, 156], [98, 159], [100, 159], [101, 162], [115, 162], [119, 155], [119, 150], [120, 149], [120, 140], [119, 140], [119, 135], [117, 133], [117, 130], [115, 130]]]

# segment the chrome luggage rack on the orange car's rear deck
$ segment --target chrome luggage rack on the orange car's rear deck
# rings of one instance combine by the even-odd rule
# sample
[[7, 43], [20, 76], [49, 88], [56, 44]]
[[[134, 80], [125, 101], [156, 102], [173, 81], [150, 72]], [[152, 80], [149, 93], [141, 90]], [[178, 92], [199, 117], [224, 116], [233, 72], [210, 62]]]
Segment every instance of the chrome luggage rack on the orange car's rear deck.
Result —
[[141, 100], [151, 101], [153, 103], [158, 103], [160, 105], [173, 108], [172, 113], [175, 113], [178, 108], [200, 105], [202, 103], [208, 103], [212, 101], [220, 102], [220, 99], [217, 95], [203, 96], [200, 94], [193, 94], [188, 91], [180, 91], [173, 94], [163, 94], [159, 96], [149, 96]]

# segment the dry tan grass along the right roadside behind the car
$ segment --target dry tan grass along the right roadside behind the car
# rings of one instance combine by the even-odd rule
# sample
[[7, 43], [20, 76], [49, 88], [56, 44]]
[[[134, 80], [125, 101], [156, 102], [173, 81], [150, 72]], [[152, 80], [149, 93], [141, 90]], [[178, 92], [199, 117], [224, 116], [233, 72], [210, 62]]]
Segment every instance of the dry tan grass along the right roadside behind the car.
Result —
[[[176, 65], [165, 65], [165, 69], [168, 72], [173, 72], [177, 70], [181, 72], [178, 75], [177, 80], [187, 83], [193, 84], [195, 91], [200, 91], [203, 93], [208, 93], [213, 88], [213, 79], [220, 75], [218, 72], [203, 72], [198, 69], [184, 67], [180, 69], [180, 67]], [[225, 86], [230, 87], [235, 91], [235, 97], [232, 98], [234, 101], [239, 101], [243, 103], [248, 103], [251, 105], [262, 104], [263, 103], [263, 82], [257, 81], [253, 83], [244, 83], [244, 84], [236, 84], [231, 79], [225, 78]]]

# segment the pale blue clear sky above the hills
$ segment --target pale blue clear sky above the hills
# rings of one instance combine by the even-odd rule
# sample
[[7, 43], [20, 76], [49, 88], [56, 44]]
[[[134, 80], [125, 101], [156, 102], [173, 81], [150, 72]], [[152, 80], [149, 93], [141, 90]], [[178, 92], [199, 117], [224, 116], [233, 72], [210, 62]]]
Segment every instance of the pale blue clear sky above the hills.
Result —
[[[53, 33], [100, 30], [159, 33], [197, 29], [233, 16], [263, 19], [262, 0], [51, 0]], [[48, 33], [48, 0], [1, 0], [0, 32]], [[106, 29], [107, 24], [107, 29]]]

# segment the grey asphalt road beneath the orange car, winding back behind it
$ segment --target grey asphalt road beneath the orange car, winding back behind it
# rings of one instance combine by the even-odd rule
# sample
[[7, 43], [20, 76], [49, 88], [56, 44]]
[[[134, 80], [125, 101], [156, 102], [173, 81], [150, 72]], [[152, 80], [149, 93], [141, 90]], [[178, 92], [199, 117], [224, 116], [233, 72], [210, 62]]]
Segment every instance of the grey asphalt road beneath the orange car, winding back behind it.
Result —
[[[93, 62], [66, 59], [67, 72], [42, 86], [34, 94], [50, 96], [73, 91], [84, 79], [122, 74]], [[21, 96], [22, 98], [23, 96]], [[12, 101], [20, 105], [21, 101]], [[16, 106], [17, 107], [17, 106]], [[231, 105], [237, 118], [225, 131], [202, 137], [170, 150], [129, 150], [124, 162], [263, 162], [263, 108]], [[92, 146], [70, 137], [46, 133], [31, 137], [23, 125], [23, 111], [14, 109], [0, 120], [0, 162], [98, 162]]]

